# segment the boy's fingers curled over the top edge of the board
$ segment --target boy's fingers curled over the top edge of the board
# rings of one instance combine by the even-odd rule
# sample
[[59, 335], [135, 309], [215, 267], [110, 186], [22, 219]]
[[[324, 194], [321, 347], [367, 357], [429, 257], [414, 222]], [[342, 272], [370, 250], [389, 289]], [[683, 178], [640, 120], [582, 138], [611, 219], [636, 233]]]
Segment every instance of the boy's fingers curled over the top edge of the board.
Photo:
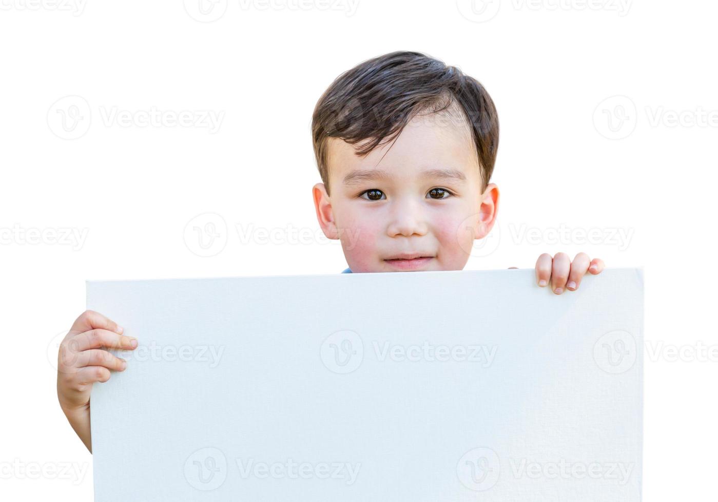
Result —
[[572, 262], [566, 253], [556, 253], [553, 258], [548, 253], [538, 256], [536, 260], [536, 282], [544, 287], [551, 283], [551, 290], [561, 294], [565, 289], [576, 291], [581, 279], [590, 272], [600, 274], [605, 268], [600, 258], [590, 259], [585, 253], [579, 253]]

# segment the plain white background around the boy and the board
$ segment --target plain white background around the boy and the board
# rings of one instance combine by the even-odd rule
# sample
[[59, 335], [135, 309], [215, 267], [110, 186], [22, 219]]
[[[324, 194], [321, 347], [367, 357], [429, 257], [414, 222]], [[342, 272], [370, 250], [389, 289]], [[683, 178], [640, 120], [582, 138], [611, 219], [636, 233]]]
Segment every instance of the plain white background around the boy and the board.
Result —
[[[718, 358], [694, 350], [718, 344], [718, 6], [220, 0], [202, 16], [193, 0], [58, 1], [0, 0], [4, 498], [92, 498], [48, 360], [86, 279], [345, 268], [312, 206], [312, 110], [341, 72], [406, 49], [476, 77], [498, 108], [498, 231], [467, 269], [557, 251], [645, 267], [645, 500], [714, 499]], [[164, 122], [139, 125], [152, 110]], [[170, 125], [185, 111], [222, 118]], [[23, 468], [69, 464], [84, 476]]]

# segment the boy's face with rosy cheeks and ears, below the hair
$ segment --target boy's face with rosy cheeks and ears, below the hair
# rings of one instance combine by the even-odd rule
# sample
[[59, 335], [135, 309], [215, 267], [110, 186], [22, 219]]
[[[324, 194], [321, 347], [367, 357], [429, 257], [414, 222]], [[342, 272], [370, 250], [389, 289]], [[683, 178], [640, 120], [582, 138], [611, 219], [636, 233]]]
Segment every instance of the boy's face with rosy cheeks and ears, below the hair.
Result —
[[329, 142], [331, 196], [317, 183], [314, 206], [353, 272], [464, 268], [498, 208], [496, 185], [482, 190], [467, 124], [447, 112], [417, 115], [364, 158], [343, 140]]

